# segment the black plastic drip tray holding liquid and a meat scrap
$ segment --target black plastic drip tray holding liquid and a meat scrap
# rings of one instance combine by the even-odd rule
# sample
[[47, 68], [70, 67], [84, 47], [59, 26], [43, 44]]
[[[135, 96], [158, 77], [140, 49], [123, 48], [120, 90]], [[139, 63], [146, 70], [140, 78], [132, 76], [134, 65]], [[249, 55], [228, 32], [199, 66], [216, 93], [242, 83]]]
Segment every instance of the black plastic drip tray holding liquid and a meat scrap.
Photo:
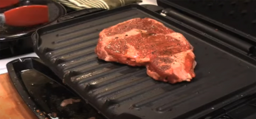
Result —
[[8, 64], [8, 70], [19, 94], [39, 119], [105, 119], [82, 100], [61, 106], [66, 99], [80, 98], [61, 82], [51, 79], [55, 75], [38, 60], [31, 57], [14, 60]]

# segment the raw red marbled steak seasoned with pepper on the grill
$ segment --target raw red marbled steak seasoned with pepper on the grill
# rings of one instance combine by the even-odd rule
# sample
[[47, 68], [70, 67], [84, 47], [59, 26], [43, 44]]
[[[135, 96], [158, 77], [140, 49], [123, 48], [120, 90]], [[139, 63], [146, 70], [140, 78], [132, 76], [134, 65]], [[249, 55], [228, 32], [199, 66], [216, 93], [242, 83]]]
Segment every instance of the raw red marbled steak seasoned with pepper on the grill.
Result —
[[100, 32], [99, 59], [146, 66], [155, 80], [176, 83], [195, 77], [193, 47], [186, 38], [150, 18], [134, 18]]

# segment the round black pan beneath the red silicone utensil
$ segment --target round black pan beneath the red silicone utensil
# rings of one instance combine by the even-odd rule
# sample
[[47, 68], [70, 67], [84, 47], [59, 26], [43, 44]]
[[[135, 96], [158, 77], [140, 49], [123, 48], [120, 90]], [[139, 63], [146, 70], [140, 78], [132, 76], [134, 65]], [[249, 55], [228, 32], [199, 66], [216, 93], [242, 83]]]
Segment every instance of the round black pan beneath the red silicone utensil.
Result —
[[32, 27], [12, 27], [0, 25], [0, 59], [33, 52], [31, 34], [38, 28], [57, 23], [57, 19], [66, 14], [66, 9], [52, 0], [22, 0], [18, 4], [1, 8], [0, 13], [24, 5], [48, 5], [49, 22]]

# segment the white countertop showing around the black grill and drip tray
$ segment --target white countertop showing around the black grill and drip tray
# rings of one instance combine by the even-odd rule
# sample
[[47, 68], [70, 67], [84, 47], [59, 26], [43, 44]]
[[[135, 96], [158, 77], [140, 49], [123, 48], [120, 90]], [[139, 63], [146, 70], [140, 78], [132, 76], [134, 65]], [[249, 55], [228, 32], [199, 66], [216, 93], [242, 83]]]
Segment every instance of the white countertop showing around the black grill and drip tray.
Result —
[[[156, 0], [143, 0], [143, 2], [140, 4], [157, 5]], [[0, 60], [0, 74], [7, 73], [7, 69], [6, 69], [7, 63], [9, 63], [10, 61], [13, 61], [17, 58], [22, 58], [22, 57], [38, 57], [38, 56], [35, 53], [29, 53], [29, 54], [25, 54], [25, 55], [19, 55], [19, 56], [15, 56], [15, 57], [11, 57], [11, 58], [2, 59], [2, 60]]]

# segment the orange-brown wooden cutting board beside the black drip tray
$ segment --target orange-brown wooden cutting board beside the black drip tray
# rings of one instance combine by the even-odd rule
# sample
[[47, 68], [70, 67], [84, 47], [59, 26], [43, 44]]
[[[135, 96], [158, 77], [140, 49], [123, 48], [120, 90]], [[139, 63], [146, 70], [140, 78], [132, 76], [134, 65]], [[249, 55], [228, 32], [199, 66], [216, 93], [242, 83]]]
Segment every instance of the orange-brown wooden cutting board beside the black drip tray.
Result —
[[18, 94], [8, 73], [0, 75], [0, 119], [38, 119]]

